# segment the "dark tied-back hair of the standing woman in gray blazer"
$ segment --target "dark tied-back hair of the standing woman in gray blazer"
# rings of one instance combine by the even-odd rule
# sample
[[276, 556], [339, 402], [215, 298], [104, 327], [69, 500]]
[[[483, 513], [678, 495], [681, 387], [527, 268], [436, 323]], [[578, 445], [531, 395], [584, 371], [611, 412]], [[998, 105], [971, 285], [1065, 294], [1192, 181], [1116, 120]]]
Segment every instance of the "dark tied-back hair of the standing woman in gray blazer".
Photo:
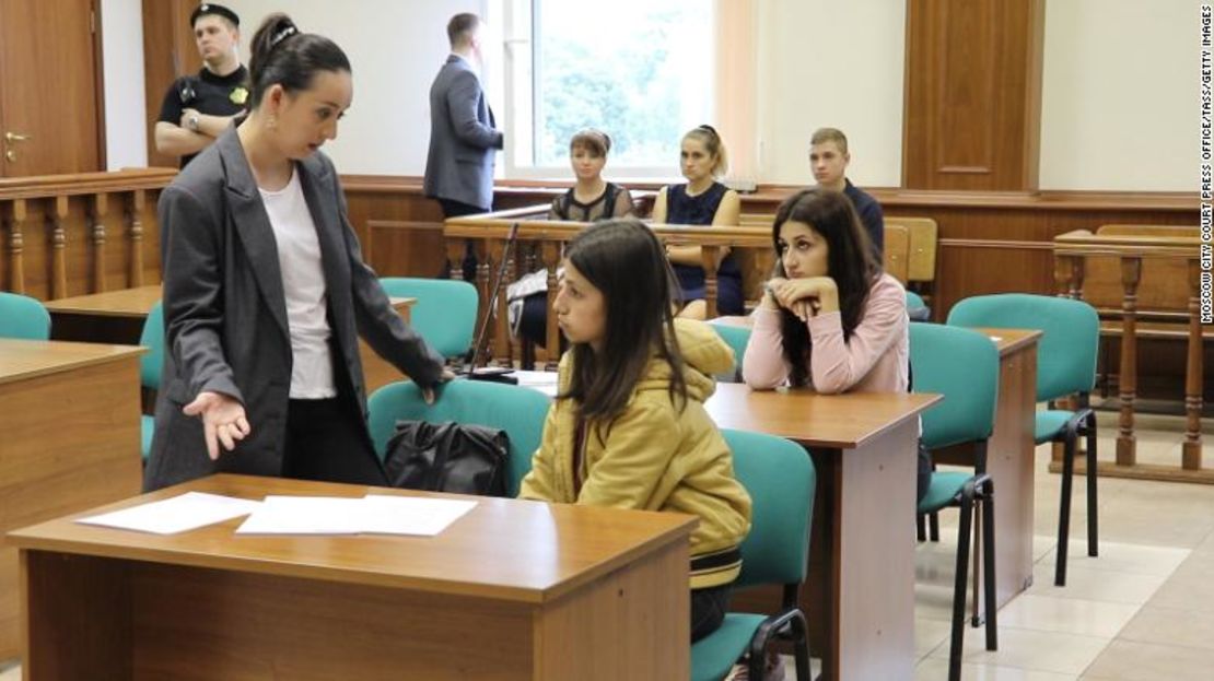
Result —
[[249, 49], [249, 108], [256, 109], [266, 90], [282, 85], [295, 92], [312, 86], [322, 70], [350, 72], [350, 59], [337, 44], [323, 35], [302, 33], [290, 17], [276, 12], [253, 34]]

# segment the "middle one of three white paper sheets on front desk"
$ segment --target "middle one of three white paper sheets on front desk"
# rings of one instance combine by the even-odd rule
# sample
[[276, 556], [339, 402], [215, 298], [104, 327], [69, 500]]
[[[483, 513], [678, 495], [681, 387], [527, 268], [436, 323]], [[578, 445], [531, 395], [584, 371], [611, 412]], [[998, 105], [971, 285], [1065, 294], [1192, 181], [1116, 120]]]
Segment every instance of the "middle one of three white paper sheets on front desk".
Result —
[[363, 500], [348, 496], [270, 495], [237, 534], [358, 534]]

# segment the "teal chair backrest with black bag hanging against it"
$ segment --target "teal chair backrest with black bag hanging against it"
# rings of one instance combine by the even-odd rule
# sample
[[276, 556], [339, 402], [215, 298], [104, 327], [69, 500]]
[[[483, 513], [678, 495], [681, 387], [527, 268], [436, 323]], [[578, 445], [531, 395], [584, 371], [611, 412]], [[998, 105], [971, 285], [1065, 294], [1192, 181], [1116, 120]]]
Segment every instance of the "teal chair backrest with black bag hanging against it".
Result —
[[433, 404], [426, 404], [413, 381], [388, 384], [367, 399], [371, 441], [380, 458], [399, 420], [455, 421], [506, 431], [510, 437], [506, 492], [511, 496], [518, 494], [518, 483], [531, 471], [550, 404], [548, 396], [537, 390], [465, 379], [443, 385]]

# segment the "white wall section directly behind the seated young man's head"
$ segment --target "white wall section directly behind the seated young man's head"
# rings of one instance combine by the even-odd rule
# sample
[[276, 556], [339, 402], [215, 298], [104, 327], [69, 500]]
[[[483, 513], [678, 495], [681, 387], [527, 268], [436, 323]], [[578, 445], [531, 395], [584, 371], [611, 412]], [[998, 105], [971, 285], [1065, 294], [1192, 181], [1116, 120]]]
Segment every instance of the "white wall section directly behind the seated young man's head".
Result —
[[810, 135], [847, 135], [857, 185], [902, 181], [904, 0], [759, 2], [759, 175], [812, 183]]

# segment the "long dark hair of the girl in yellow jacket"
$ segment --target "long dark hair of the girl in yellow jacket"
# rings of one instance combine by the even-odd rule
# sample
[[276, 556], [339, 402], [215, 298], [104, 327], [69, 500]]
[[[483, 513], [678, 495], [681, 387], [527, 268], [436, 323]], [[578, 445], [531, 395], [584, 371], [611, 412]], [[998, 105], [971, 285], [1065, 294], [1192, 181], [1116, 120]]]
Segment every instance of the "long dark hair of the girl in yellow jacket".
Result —
[[580, 419], [609, 430], [657, 353], [670, 364], [670, 399], [682, 408], [687, 384], [670, 305], [674, 273], [658, 238], [639, 220], [606, 220], [578, 234], [566, 259], [602, 293], [607, 322], [601, 352], [573, 344], [573, 376], [557, 398], [577, 401]]

